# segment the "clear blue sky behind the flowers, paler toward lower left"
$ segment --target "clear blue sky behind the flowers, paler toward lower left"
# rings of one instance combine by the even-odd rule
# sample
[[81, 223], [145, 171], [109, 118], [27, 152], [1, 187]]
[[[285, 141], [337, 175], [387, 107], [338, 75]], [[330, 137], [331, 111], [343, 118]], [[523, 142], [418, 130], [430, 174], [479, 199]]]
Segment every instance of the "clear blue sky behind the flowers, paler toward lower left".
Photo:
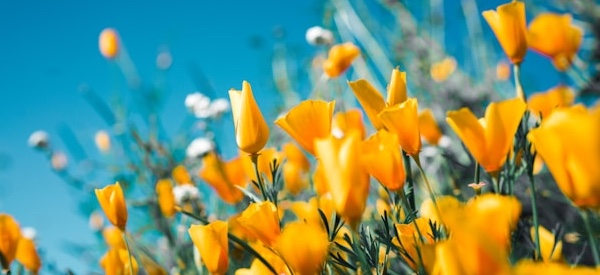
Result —
[[[490, 9], [503, 1], [478, 2], [484, 2], [480, 9]], [[75, 209], [72, 196], [77, 193], [27, 146], [27, 138], [42, 129], [56, 141], [57, 127], [67, 124], [84, 146], [94, 149], [93, 135], [106, 125], [78, 87], [86, 84], [108, 97], [121, 81], [98, 53], [103, 28], [120, 32], [147, 81], [155, 76], [160, 47], [170, 48], [174, 63], [166, 119], [179, 123], [186, 115], [185, 95], [195, 90], [186, 71], [189, 62], [197, 62], [221, 96], [242, 80], [264, 96], [261, 91], [270, 86], [273, 28], [282, 26], [288, 42], [310, 50], [304, 31], [321, 23], [320, 5], [316, 0], [0, 1], [0, 212], [36, 228], [47, 259], [59, 268], [87, 270], [62, 247], [65, 240], [93, 240], [87, 220]], [[457, 8], [448, 8], [453, 14], [447, 16], [456, 16]], [[490, 30], [484, 25], [485, 32]], [[252, 37], [261, 37], [263, 47], [251, 48]]]

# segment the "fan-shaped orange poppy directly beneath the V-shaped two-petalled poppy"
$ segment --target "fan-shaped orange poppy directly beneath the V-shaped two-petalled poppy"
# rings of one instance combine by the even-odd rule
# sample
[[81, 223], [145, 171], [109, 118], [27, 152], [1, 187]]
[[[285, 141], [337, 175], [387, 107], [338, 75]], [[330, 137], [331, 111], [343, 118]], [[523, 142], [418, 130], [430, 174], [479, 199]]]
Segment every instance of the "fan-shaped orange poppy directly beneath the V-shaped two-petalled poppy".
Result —
[[418, 102], [416, 98], [385, 108], [379, 119], [385, 128], [398, 136], [400, 147], [412, 157], [421, 151], [421, 135], [419, 131]]

